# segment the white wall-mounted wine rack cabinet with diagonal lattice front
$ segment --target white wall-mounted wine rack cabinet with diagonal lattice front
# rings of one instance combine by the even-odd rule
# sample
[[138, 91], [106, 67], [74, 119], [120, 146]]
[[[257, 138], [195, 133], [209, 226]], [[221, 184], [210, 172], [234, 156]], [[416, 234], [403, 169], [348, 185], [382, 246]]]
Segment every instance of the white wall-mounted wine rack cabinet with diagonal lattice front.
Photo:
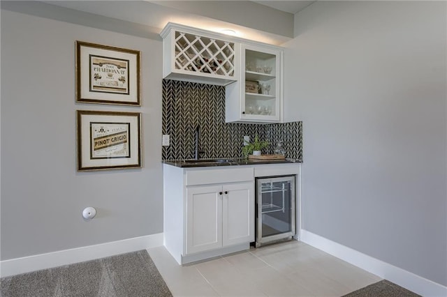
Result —
[[226, 86], [240, 78], [240, 45], [225, 35], [169, 23], [163, 38], [163, 78]]

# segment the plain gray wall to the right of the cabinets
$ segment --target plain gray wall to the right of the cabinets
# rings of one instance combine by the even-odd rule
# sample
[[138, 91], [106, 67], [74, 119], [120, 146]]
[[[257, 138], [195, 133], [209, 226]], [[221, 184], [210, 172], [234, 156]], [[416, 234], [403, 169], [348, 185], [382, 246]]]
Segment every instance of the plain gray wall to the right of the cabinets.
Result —
[[446, 4], [318, 1], [295, 15], [284, 75], [303, 229], [443, 285]]

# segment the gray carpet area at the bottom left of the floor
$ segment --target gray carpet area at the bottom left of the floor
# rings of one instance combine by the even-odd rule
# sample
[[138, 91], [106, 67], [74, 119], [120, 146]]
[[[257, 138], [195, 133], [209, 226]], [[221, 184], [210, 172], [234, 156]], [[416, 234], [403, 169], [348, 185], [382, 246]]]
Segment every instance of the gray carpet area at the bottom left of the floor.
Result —
[[1, 278], [3, 297], [173, 296], [146, 250]]

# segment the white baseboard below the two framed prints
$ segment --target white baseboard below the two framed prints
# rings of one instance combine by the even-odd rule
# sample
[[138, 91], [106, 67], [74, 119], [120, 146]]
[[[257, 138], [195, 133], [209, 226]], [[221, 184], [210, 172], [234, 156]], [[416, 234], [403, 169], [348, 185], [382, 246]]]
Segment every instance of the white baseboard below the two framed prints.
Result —
[[163, 233], [112, 241], [98, 245], [88, 245], [70, 250], [59, 250], [46, 254], [0, 261], [0, 276], [17, 275], [67, 264], [100, 259], [104, 257], [146, 250], [163, 245]]

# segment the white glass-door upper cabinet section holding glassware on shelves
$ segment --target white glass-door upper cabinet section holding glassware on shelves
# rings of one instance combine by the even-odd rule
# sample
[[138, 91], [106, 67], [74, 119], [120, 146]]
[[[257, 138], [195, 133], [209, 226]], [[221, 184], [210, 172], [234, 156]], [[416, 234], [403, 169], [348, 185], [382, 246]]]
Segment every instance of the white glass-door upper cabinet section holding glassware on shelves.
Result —
[[283, 52], [272, 45], [241, 45], [241, 78], [226, 87], [226, 122], [281, 122]]

